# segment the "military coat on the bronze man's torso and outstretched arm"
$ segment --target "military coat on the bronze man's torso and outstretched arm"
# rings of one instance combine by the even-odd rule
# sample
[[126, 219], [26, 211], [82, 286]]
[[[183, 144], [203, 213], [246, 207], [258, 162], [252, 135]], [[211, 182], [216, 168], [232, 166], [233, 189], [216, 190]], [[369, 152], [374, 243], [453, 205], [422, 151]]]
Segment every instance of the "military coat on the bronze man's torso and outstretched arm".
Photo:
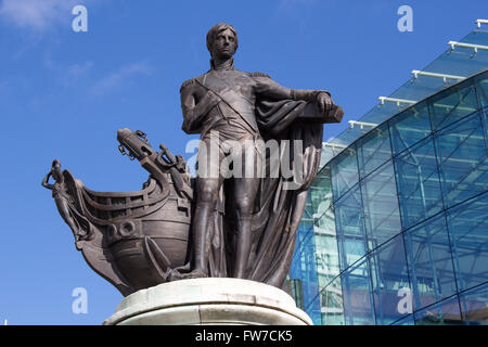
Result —
[[[230, 66], [210, 69], [208, 73], [185, 81], [180, 89], [183, 111], [182, 129], [187, 133], [201, 133], [201, 140], [209, 149], [213, 134], [218, 136], [218, 163], [203, 158], [207, 166], [218, 166], [232, 151], [229, 141], [261, 140], [256, 121], [257, 100], [311, 101], [322, 91], [293, 90], [280, 86], [262, 73], [244, 73]], [[234, 142], [235, 143], [235, 142]], [[242, 152], [244, 150], [242, 146]], [[254, 147], [254, 151], [257, 151]], [[217, 167], [216, 167], [217, 168]]]

